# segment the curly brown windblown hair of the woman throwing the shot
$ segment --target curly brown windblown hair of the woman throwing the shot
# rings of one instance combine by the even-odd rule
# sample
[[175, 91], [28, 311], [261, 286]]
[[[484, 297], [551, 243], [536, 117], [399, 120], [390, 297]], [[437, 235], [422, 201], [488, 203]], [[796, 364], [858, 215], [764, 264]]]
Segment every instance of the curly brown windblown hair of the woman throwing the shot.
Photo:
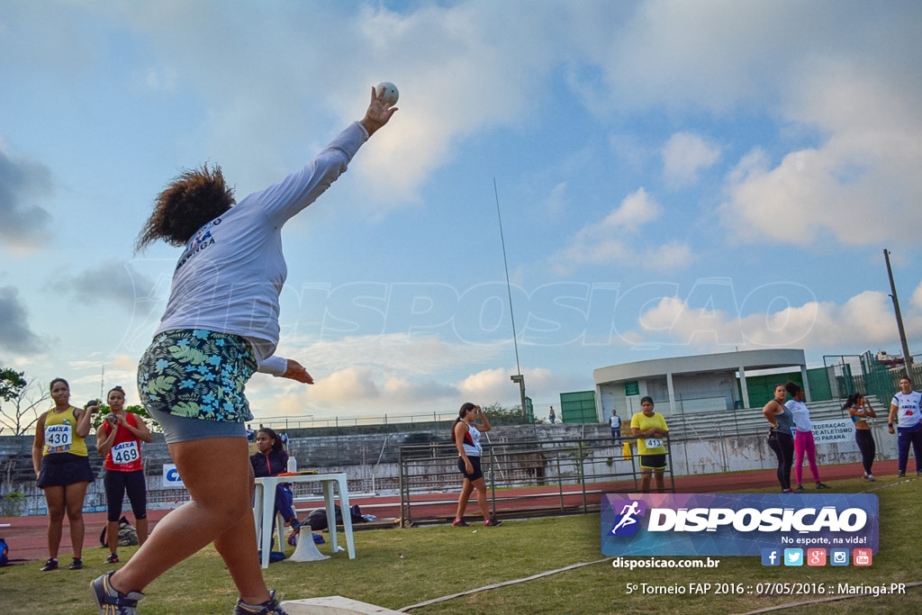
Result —
[[224, 182], [221, 168], [189, 169], [174, 177], [154, 201], [154, 211], [137, 237], [136, 251], [162, 239], [177, 247], [206, 222], [218, 218], [234, 204], [233, 188]]

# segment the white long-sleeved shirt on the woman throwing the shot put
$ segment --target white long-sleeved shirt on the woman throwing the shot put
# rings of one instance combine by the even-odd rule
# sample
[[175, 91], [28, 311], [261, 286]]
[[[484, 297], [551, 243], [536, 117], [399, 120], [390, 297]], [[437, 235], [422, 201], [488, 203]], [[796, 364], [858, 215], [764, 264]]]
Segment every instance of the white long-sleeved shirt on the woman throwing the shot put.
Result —
[[155, 335], [207, 329], [245, 337], [260, 372], [281, 375], [288, 361], [278, 346], [278, 295], [288, 276], [281, 230], [346, 171], [368, 133], [350, 124], [301, 171], [199, 229], [173, 272], [170, 300]]

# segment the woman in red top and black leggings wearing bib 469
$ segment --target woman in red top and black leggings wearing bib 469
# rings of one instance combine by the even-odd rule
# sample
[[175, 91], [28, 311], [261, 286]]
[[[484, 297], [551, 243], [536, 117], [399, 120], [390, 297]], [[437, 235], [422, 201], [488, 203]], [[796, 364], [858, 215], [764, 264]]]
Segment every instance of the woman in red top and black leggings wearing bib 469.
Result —
[[96, 430], [96, 450], [105, 457], [106, 540], [109, 557], [106, 563], [118, 562], [118, 526], [125, 493], [135, 514], [137, 542], [148, 539], [148, 485], [141, 464], [141, 443], [152, 442], [144, 419], [124, 411], [124, 389], [114, 387], [107, 396], [111, 412]]

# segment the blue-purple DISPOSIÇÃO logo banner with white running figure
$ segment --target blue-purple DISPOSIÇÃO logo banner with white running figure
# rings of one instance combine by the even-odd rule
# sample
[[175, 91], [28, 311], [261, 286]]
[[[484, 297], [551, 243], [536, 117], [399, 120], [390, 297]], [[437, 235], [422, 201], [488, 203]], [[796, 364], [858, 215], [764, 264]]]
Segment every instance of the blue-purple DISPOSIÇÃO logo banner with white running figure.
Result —
[[[879, 505], [870, 493], [606, 494], [605, 555], [757, 555], [860, 547], [876, 553]], [[824, 562], [825, 563], [825, 562]], [[774, 565], [770, 562], [767, 565]]]

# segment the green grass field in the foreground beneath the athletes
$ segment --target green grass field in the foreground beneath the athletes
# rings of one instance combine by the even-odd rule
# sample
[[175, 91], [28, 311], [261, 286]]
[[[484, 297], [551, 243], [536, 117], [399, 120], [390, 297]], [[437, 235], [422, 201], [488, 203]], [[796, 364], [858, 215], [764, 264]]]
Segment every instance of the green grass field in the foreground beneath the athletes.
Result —
[[[865, 491], [869, 485], [837, 481], [835, 491]], [[738, 583], [849, 583], [877, 585], [922, 582], [922, 479], [881, 479], [881, 549], [869, 568], [764, 567], [757, 557], [719, 558], [716, 569], [633, 572], [609, 561], [551, 574], [525, 583], [485, 590], [413, 613], [745, 613], [775, 605], [786, 612], [922, 613], [922, 587], [903, 596], [854, 597], [826, 604], [797, 604], [830, 597], [801, 596], [641, 596], [627, 595], [628, 583], [712, 585]], [[774, 491], [774, 490], [770, 490]], [[477, 530], [476, 532], [474, 530]], [[389, 609], [469, 589], [525, 578], [580, 562], [603, 560], [597, 514], [507, 521], [500, 527], [361, 531], [355, 534], [357, 559], [345, 552], [323, 562], [279, 562], [266, 571], [266, 582], [286, 599], [344, 596]], [[321, 550], [326, 552], [327, 547]], [[127, 559], [134, 548], [123, 548]], [[403, 558], [399, 555], [403, 554]], [[95, 612], [89, 581], [110, 567], [107, 550], [84, 551], [86, 568], [40, 574], [41, 562], [0, 569], [0, 613]], [[231, 579], [217, 552], [202, 550], [148, 587], [142, 613], [230, 613], [236, 599]]]

